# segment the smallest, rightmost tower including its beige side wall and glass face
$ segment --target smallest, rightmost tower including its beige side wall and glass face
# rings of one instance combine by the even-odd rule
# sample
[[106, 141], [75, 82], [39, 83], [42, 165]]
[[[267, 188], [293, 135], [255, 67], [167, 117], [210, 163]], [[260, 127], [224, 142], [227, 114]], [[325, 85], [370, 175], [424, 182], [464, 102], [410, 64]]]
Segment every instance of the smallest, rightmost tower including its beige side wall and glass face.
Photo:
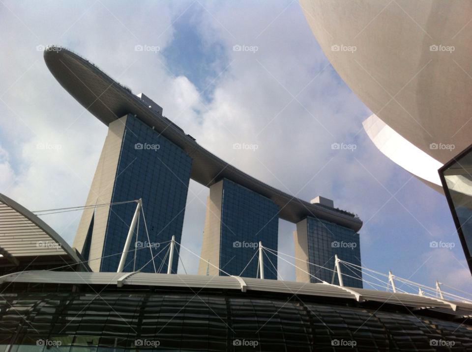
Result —
[[[296, 224], [295, 257], [297, 267], [296, 280], [319, 283], [320, 280], [339, 285], [334, 273], [335, 255], [342, 261], [360, 266], [359, 234], [354, 230], [332, 222], [307, 217]], [[303, 262], [305, 261], [305, 262]], [[308, 264], [310, 262], [312, 264]], [[352, 271], [341, 266], [344, 286], [362, 288], [362, 276], [359, 271]]]

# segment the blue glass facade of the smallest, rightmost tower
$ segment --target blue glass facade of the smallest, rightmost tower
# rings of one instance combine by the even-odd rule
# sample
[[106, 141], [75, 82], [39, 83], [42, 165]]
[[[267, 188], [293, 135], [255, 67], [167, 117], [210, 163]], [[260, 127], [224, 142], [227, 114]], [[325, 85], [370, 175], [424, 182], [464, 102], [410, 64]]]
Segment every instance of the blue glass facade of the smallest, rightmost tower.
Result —
[[[328, 283], [333, 282], [335, 254], [340, 260], [361, 265], [359, 234], [354, 233], [354, 230], [314, 217], [307, 217], [307, 234], [308, 261], [327, 268], [310, 265], [310, 274]], [[362, 277], [359, 277], [361, 274], [358, 271], [350, 271], [343, 265], [341, 265], [341, 271], [344, 286], [362, 288]], [[320, 281], [311, 277], [311, 282], [319, 283]], [[337, 274], [334, 275], [333, 283], [339, 285]]]

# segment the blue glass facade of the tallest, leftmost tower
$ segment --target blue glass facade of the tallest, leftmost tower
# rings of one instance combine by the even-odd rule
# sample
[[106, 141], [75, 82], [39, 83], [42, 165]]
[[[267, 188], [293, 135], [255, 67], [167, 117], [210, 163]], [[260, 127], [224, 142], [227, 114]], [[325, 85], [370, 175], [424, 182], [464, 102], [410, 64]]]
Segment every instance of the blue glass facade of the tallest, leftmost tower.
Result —
[[[168, 244], [166, 242], [172, 239], [172, 235], [175, 235], [176, 241], [180, 243], [191, 168], [192, 159], [186, 152], [128, 114], [112, 202], [143, 198], [149, 240], [144, 218], [141, 216], [139, 226], [135, 230], [138, 231], [138, 239], [136, 235], [133, 236], [123, 271], [141, 269], [154, 272], [151, 250], [153, 256], [156, 256]], [[133, 202], [111, 207], [100, 271], [117, 271], [121, 256], [114, 254], [123, 251], [136, 206], [137, 203]], [[135, 265], [136, 244], [138, 246]], [[178, 250], [179, 246], [176, 247]], [[167, 272], [166, 253], [167, 249], [154, 259], [158, 272]], [[174, 253], [173, 272], [177, 272], [177, 262], [177, 253]]]

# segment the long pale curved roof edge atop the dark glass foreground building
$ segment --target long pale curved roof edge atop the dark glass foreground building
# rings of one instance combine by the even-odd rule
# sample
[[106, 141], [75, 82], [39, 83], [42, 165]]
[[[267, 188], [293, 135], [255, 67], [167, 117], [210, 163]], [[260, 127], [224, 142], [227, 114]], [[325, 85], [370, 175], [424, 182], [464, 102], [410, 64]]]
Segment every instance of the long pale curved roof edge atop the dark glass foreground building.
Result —
[[[405, 307], [412, 314], [428, 312], [429, 314], [445, 314], [452, 319], [468, 319], [472, 317], [472, 303], [450, 301], [408, 293], [392, 293], [340, 287], [327, 283], [304, 283], [281, 280], [265, 280], [239, 276], [207, 276], [156, 274], [146, 272], [62, 272], [62, 271], [23, 271], [0, 277], [3, 282], [23, 283], [56, 283], [74, 285], [117, 285], [117, 287], [161, 287], [189, 289], [227, 289], [240, 290], [243, 293], [282, 293], [297, 294], [320, 298], [336, 298], [339, 302], [356, 301], [359, 305], [398, 306]], [[200, 292], [200, 291], [199, 291]], [[386, 308], [386, 306], [385, 306]], [[380, 308], [379, 308], [380, 309]]]

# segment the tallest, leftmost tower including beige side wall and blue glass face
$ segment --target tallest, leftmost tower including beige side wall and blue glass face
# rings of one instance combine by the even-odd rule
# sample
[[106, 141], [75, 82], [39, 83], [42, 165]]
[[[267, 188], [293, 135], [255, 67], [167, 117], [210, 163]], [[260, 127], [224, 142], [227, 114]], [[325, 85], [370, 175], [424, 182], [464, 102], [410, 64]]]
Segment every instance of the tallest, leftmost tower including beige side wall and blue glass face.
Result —
[[[158, 272], [167, 272], [168, 263], [164, 260], [167, 250], [158, 252], [161, 244], [167, 244], [173, 235], [180, 243], [192, 159], [131, 114], [110, 124], [102, 154], [105, 155], [100, 158], [87, 203], [143, 199], [145, 217], [141, 216], [135, 229], [123, 271], [154, 272], [155, 265]], [[82, 254], [88, 260], [103, 257], [99, 260], [99, 271], [117, 271], [136, 206], [137, 203], [131, 202], [84, 212], [81, 225], [87, 224], [91, 215], [89, 229], [85, 237], [80, 236], [85, 227], [79, 225], [76, 243], [84, 241]], [[94, 244], [101, 247], [101, 253], [90, 256]], [[177, 250], [178, 247], [177, 244]], [[177, 272], [177, 261], [175, 255], [173, 272]]]

